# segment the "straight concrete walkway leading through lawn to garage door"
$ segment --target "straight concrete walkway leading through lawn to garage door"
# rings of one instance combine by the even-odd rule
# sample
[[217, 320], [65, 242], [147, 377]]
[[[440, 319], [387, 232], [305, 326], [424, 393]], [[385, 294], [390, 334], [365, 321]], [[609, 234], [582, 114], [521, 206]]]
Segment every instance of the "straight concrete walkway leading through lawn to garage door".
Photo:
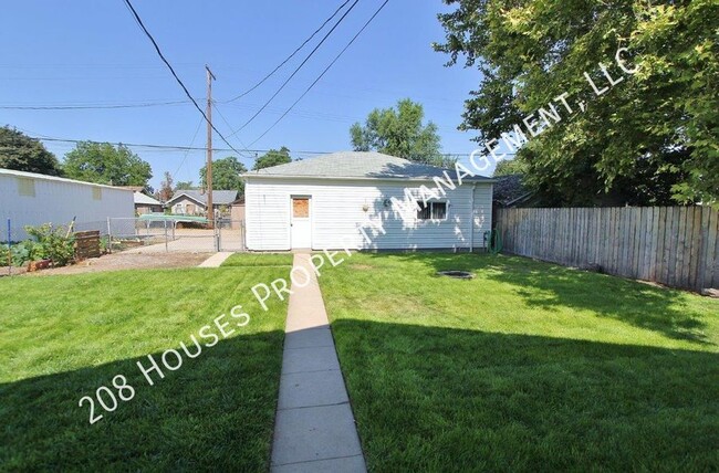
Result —
[[322, 293], [309, 254], [294, 266], [312, 274], [291, 290], [272, 472], [366, 472]]

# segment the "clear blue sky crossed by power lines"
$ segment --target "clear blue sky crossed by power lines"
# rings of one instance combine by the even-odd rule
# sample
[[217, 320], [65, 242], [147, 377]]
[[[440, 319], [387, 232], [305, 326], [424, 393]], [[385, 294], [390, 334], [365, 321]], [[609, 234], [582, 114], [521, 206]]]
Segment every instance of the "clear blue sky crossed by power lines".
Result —
[[[192, 96], [204, 99], [205, 64], [217, 82], [221, 102], [249, 88], [291, 53], [342, 2], [341, 0], [169, 1], [135, 0], [146, 27]], [[252, 124], [229, 141], [244, 148], [254, 141], [379, 7], [359, 0], [332, 36]], [[350, 126], [375, 107], [409, 97], [425, 106], [439, 127], [442, 151], [469, 154], [472, 133], [456, 128], [463, 101], [477, 88], [476, 70], [445, 67], [448, 57], [433, 51], [442, 41], [439, 0], [390, 0], [375, 21], [294, 111], [253, 149], [288, 146], [292, 151], [350, 149]], [[97, 105], [183, 101], [185, 95], [122, 0], [49, 2], [25, 0], [3, 6], [0, 40], [0, 105]], [[326, 30], [325, 30], [326, 31]], [[311, 43], [314, 45], [322, 34]], [[215, 124], [229, 135], [264, 103], [311, 51], [303, 50], [285, 67], [240, 101], [218, 104]], [[204, 106], [204, 104], [200, 102]], [[205, 125], [191, 104], [101, 111], [0, 109], [0, 124], [32, 136], [205, 146]], [[229, 124], [229, 125], [228, 125]], [[199, 132], [196, 135], [196, 130]], [[196, 135], [196, 136], [195, 136]], [[195, 139], [192, 140], [192, 137]], [[215, 137], [217, 147], [225, 147]], [[73, 145], [46, 143], [62, 158]], [[152, 185], [164, 171], [176, 180], [199, 180], [205, 154], [134, 148], [153, 166]], [[216, 158], [233, 153], [218, 151]], [[294, 154], [295, 157], [310, 155]], [[243, 159], [250, 167], [251, 159]]]

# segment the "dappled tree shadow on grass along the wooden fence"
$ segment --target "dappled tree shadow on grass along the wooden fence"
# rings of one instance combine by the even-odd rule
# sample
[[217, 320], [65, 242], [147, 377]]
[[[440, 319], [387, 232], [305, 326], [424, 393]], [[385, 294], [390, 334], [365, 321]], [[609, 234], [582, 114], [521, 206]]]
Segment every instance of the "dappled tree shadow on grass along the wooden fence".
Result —
[[[381, 263], [382, 254], [372, 254]], [[573, 307], [593, 311], [636, 327], [675, 339], [709, 344], [704, 329], [706, 314], [686, 307], [685, 293], [652, 287], [616, 276], [572, 270], [521, 256], [491, 254], [402, 253], [403, 261], [419, 263], [429, 272], [470, 271], [481, 280], [513, 287], [529, 306], [543, 309]], [[439, 277], [439, 276], [437, 276]], [[462, 282], [459, 282], [462, 283]]]

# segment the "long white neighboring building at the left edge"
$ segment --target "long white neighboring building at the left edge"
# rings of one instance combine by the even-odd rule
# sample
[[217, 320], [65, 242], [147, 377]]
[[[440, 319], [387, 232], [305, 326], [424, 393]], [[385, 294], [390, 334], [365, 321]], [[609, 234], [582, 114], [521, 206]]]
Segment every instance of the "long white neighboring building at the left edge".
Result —
[[24, 225], [66, 225], [76, 218], [79, 229], [102, 230], [117, 217], [135, 217], [132, 189], [0, 169], [0, 240], [7, 239], [8, 219], [12, 240], [23, 240]]

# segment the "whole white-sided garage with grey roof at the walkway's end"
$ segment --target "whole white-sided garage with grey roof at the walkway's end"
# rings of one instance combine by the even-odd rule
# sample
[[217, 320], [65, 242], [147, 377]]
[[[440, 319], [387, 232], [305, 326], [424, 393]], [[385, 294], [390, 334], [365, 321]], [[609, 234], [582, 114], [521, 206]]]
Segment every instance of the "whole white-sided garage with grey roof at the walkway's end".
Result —
[[442, 169], [346, 151], [243, 178], [251, 251], [473, 251], [491, 229], [492, 180], [461, 165]]

